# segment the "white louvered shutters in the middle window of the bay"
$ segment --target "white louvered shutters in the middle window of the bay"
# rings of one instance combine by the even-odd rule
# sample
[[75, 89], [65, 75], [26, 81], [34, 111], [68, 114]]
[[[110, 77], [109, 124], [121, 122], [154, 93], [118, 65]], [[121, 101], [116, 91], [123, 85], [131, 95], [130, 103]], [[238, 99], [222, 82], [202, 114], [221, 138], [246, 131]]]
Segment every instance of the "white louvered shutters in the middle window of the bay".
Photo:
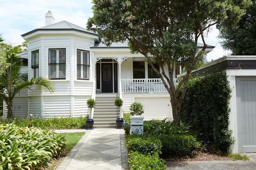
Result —
[[50, 78], [66, 78], [66, 49], [51, 49], [49, 55]]

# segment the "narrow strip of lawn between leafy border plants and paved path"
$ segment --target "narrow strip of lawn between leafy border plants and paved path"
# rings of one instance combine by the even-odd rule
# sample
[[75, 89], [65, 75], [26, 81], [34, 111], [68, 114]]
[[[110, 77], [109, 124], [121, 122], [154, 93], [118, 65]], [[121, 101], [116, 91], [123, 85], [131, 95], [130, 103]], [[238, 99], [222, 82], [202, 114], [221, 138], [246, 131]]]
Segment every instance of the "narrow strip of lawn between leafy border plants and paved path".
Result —
[[59, 159], [52, 159], [50, 166], [47, 170], [54, 170], [61, 161], [66, 157], [66, 155], [72, 150], [72, 148], [78, 143], [78, 141], [84, 136], [85, 132], [76, 132], [76, 133], [59, 133], [67, 139], [67, 145], [64, 150], [61, 152], [62, 155]]

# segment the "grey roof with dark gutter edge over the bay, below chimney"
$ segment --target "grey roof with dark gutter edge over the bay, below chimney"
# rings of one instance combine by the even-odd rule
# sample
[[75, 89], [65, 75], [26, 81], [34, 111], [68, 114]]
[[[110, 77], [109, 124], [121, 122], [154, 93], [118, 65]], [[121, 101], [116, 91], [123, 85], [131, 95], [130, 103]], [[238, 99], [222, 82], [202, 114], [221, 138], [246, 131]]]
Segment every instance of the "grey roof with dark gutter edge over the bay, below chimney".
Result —
[[57, 22], [55, 24], [52, 24], [52, 25], [49, 25], [49, 26], [44, 26], [44, 27], [41, 27], [41, 28], [37, 28], [37, 29], [34, 29], [32, 31], [29, 31], [28, 33], [24, 33], [22, 34], [21, 36], [25, 36], [25, 35], [28, 35], [28, 34], [31, 34], [31, 33], [34, 33], [36, 31], [47, 31], [47, 30], [75, 30], [75, 31], [80, 31], [80, 32], [83, 32], [83, 33], [90, 33], [90, 34], [93, 34], [93, 35], [97, 35], [99, 36], [97, 33], [94, 33], [92, 31], [88, 31], [87, 29], [83, 28], [83, 27], [80, 27], [80, 26], [77, 26], [75, 24], [72, 24], [68, 21], [60, 21], [60, 22]]

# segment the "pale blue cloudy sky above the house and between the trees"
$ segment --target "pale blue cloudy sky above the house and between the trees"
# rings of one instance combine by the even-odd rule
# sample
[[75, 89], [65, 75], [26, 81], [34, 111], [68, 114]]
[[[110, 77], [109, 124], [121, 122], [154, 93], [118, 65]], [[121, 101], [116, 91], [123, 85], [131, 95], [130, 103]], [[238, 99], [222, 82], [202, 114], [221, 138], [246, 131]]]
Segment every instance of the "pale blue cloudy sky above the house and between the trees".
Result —
[[[93, 16], [91, 0], [0, 0], [0, 34], [5, 42], [21, 44], [21, 34], [45, 26], [45, 13], [52, 11], [56, 22], [66, 20], [86, 27], [87, 19]], [[205, 38], [207, 44], [215, 46], [207, 54], [207, 60], [218, 59], [230, 53], [220, 46], [219, 31], [213, 27]]]

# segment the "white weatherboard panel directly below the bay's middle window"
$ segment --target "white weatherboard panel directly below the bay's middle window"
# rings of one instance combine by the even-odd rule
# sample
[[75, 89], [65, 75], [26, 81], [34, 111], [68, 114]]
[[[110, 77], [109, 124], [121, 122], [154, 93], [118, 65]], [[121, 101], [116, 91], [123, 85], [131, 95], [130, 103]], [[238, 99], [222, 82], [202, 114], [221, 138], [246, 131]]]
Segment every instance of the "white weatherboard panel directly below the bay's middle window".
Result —
[[70, 97], [51, 96], [44, 97], [44, 117], [69, 117], [70, 116]]

